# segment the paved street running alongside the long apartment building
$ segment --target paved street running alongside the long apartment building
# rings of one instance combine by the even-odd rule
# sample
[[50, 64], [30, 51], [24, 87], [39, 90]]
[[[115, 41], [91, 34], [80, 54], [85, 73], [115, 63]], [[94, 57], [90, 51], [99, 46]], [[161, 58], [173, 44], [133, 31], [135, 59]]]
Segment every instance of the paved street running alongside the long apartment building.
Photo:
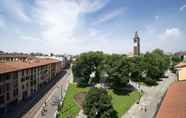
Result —
[[[57, 104], [61, 99], [61, 95], [65, 96], [65, 91], [69, 85], [69, 78], [72, 77], [71, 71], [68, 70], [67, 73], [60, 79], [48, 93], [42, 97], [42, 99], [35, 104], [32, 109], [27, 112], [23, 118], [55, 118], [57, 111]], [[46, 107], [44, 107], [46, 106]], [[45, 112], [42, 112], [45, 109]]]

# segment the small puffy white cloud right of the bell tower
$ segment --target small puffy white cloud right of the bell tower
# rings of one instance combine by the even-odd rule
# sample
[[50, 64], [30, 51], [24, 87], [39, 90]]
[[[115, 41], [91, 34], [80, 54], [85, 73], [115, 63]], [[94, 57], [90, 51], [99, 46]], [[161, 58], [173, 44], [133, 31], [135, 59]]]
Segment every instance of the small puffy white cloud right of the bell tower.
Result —
[[160, 39], [163, 40], [174, 40], [180, 38], [182, 35], [179, 28], [169, 28], [166, 29], [165, 32], [160, 34]]

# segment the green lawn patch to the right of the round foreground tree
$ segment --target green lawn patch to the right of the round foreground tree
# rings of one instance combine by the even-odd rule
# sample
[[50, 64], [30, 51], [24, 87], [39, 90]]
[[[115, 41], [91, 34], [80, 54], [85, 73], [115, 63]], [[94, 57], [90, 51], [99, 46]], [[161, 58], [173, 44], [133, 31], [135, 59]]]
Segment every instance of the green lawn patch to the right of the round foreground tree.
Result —
[[128, 111], [128, 109], [135, 103], [140, 97], [138, 91], [130, 92], [129, 95], [117, 95], [109, 90], [109, 94], [112, 96], [112, 104], [114, 109], [118, 112], [119, 118]]

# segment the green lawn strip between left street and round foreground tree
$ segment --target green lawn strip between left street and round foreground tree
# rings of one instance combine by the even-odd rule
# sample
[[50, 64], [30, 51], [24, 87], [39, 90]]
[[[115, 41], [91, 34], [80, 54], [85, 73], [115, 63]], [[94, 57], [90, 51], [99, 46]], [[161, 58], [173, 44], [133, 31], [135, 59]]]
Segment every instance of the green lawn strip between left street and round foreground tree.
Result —
[[88, 90], [89, 88], [79, 88], [75, 84], [70, 84], [60, 112], [60, 118], [67, 118], [69, 115], [75, 118], [80, 111], [80, 107], [77, 105], [74, 96], [79, 92], [88, 92]]

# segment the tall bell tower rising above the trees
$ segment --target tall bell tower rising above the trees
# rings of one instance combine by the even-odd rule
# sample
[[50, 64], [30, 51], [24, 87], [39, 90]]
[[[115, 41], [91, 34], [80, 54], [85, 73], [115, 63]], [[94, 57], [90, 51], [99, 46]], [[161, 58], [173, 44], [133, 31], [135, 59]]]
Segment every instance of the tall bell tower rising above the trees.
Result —
[[140, 38], [138, 36], [138, 32], [135, 32], [133, 43], [133, 55], [140, 55]]

